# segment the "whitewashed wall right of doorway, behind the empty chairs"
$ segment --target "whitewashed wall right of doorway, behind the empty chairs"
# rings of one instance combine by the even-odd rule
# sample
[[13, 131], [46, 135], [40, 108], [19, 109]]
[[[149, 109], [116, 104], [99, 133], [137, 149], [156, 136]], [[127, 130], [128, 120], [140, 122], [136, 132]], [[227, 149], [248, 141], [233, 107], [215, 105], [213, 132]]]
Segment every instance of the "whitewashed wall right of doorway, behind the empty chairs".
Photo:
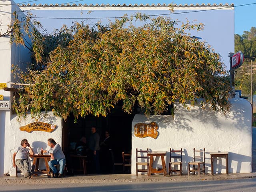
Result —
[[[169, 149], [183, 149], [183, 172], [192, 161], [193, 148], [206, 150], [206, 173], [211, 172], [209, 152], [228, 151], [230, 173], [252, 172], [252, 108], [251, 104], [236, 95], [231, 100], [232, 108], [228, 116], [221, 116], [210, 110], [192, 107], [190, 110], [176, 104], [174, 117], [136, 115], [132, 122], [132, 174], [136, 174], [136, 148], [151, 151], [166, 151], [168, 170]], [[134, 136], [134, 125], [139, 122], [156, 122], [159, 136], [138, 138]], [[162, 167], [156, 160], [154, 166]], [[225, 173], [225, 158], [220, 162], [214, 158], [214, 172]]]

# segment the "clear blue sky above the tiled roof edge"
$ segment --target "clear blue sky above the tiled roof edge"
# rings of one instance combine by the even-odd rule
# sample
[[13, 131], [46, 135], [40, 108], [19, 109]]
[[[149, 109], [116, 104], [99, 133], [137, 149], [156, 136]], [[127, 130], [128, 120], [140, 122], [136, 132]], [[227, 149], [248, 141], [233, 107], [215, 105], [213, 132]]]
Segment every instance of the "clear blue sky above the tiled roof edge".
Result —
[[[244, 31], [256, 27], [256, 0], [14, 0], [16, 3], [24, 4], [232, 4], [235, 5], [235, 34], [242, 35]], [[30, 2], [29, 2], [30, 1]], [[254, 3], [254, 4], [253, 4]], [[246, 5], [250, 4], [250, 5]], [[241, 6], [244, 5], [244, 6]]]

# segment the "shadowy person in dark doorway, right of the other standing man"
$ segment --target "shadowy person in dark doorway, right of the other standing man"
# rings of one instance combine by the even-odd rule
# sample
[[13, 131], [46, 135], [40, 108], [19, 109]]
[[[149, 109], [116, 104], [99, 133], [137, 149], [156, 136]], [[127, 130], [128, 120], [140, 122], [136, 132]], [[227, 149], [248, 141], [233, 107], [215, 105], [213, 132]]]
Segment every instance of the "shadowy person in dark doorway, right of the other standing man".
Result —
[[100, 144], [102, 170], [104, 173], [114, 172], [114, 154], [112, 151], [112, 139], [108, 131], [105, 131], [105, 139]]

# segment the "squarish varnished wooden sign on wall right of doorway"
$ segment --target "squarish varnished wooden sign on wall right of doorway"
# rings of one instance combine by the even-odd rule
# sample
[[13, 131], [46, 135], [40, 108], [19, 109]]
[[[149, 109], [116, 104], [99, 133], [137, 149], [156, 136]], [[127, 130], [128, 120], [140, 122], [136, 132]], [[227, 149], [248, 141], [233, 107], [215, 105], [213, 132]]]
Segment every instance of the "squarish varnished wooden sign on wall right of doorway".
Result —
[[151, 122], [150, 124], [146, 123], [137, 123], [134, 125], [134, 134], [136, 137], [152, 137], [154, 139], [158, 136], [158, 125], [156, 122]]

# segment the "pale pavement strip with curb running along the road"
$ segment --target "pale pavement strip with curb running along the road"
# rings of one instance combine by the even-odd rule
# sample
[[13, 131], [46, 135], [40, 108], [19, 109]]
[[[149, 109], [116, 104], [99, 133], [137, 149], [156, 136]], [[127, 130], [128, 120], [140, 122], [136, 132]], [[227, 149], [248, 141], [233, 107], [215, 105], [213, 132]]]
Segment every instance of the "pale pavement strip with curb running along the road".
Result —
[[87, 175], [87, 176], [67, 176], [65, 178], [47, 178], [46, 176], [36, 176], [28, 179], [22, 176], [6, 176], [0, 178], [0, 185], [14, 184], [82, 184], [82, 183], [126, 183], [126, 182], [189, 182], [189, 181], [210, 181], [210, 180], [233, 180], [256, 178], [256, 173], [247, 174], [206, 174], [205, 176], [166, 176], [152, 175], [150, 178], [145, 176], [136, 176], [131, 174], [113, 174], [113, 175]]

